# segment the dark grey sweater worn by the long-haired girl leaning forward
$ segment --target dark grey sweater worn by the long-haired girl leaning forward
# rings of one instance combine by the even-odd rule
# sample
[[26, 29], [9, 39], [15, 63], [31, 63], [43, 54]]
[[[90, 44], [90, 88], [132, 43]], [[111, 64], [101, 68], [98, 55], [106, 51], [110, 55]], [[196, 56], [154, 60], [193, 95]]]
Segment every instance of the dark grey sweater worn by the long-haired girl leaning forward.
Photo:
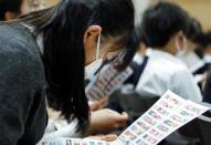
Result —
[[34, 145], [46, 126], [44, 69], [35, 39], [0, 23], [0, 145]]

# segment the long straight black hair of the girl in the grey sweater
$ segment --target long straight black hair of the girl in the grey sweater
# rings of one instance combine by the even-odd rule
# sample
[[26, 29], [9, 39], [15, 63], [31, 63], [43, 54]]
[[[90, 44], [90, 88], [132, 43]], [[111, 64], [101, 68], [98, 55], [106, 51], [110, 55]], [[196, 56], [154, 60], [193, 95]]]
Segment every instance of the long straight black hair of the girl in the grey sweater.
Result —
[[131, 0], [61, 0], [57, 6], [27, 14], [20, 21], [32, 25], [36, 35], [43, 34], [49, 105], [68, 121], [77, 118], [78, 131], [86, 131], [89, 112], [84, 91], [85, 30], [99, 24], [103, 37], [120, 35], [125, 60], [129, 60], [135, 51], [127, 46], [134, 30]]

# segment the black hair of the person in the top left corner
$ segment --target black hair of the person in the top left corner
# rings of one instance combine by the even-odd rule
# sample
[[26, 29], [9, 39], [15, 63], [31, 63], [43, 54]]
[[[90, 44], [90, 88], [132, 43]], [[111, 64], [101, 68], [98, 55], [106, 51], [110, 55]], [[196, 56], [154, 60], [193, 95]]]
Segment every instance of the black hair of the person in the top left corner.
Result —
[[20, 14], [22, 0], [0, 0], [0, 20], [4, 20], [7, 11], [15, 12]]

